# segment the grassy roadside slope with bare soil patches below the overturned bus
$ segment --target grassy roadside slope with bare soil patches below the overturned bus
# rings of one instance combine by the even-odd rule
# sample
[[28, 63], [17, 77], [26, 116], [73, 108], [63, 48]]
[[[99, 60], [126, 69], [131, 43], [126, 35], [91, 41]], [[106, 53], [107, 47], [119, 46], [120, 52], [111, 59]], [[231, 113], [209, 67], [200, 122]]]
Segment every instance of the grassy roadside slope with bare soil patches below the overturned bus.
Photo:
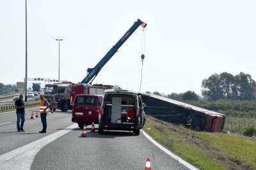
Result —
[[196, 132], [147, 116], [143, 128], [199, 169], [256, 169], [256, 142], [234, 134]]

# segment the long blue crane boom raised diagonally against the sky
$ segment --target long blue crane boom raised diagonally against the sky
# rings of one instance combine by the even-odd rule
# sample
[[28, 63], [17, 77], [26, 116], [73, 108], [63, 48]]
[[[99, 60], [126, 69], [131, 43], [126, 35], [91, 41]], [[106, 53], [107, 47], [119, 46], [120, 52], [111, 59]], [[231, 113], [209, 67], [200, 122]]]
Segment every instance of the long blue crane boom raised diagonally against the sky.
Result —
[[[108, 63], [109, 59], [112, 58], [112, 56], [115, 55], [116, 51], [123, 45], [123, 43], [129, 38], [129, 36], [134, 33], [134, 31], [139, 27], [146, 27], [147, 24], [145, 22], [142, 22], [140, 19], [138, 19], [134, 24], [131, 26], [131, 28], [122, 36], [122, 38], [108, 51], [108, 53], [97, 63], [97, 65], [94, 68], [88, 68], [87, 72], [88, 74], [86, 77], [84, 77], [83, 81], [81, 81], [82, 84], [88, 84], [91, 80], [95, 79], [97, 74], [100, 72], [101, 68]], [[91, 81], [91, 82], [92, 82]]]

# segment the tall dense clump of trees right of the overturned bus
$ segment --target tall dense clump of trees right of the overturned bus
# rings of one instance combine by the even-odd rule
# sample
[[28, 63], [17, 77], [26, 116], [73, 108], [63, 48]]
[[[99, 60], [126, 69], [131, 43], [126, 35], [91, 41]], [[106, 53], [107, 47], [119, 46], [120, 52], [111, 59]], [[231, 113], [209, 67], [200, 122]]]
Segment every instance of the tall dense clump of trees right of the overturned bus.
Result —
[[253, 100], [256, 82], [248, 73], [214, 73], [202, 81], [202, 95], [209, 100]]

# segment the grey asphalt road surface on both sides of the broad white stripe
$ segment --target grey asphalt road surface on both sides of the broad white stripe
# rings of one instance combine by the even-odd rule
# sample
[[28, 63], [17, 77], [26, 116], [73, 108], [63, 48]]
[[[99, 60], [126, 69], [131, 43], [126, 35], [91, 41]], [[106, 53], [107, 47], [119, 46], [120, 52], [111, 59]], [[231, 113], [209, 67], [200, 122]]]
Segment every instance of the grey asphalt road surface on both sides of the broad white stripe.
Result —
[[[15, 112], [0, 114], [0, 158], [4, 153], [54, 135], [73, 124], [70, 112], [54, 112], [47, 116], [47, 133], [39, 134], [42, 123], [40, 118], [30, 120], [31, 110], [26, 111], [26, 132], [22, 133], [16, 130]], [[74, 128], [44, 146], [36, 152], [31, 169], [145, 169], [147, 157], [151, 159], [152, 169], [187, 169], [159, 150], [142, 133], [139, 136], [131, 132], [100, 135], [89, 129], [86, 138], [80, 137], [81, 133], [81, 129]]]

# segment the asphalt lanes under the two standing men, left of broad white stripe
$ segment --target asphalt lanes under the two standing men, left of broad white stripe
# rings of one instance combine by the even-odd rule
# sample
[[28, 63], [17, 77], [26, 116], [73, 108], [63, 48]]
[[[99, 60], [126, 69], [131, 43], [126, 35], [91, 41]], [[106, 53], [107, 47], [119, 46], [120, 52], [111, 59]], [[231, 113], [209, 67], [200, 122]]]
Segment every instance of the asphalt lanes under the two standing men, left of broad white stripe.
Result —
[[26, 110], [24, 123], [26, 132], [17, 132], [15, 111], [0, 114], [0, 155], [72, 125], [70, 112], [54, 112], [47, 115], [47, 133], [40, 134], [38, 133], [42, 130], [40, 117], [30, 120], [31, 110], [35, 109]]

